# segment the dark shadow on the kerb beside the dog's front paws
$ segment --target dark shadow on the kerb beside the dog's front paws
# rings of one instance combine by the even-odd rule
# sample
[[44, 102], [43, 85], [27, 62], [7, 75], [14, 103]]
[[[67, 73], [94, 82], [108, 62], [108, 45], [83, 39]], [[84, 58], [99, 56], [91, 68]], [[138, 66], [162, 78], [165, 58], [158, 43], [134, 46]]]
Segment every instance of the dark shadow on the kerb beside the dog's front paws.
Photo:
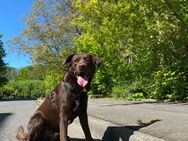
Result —
[[[94, 141], [129, 141], [135, 131], [144, 126], [108, 126], [102, 139]], [[85, 141], [85, 139], [71, 138], [70, 141]]]

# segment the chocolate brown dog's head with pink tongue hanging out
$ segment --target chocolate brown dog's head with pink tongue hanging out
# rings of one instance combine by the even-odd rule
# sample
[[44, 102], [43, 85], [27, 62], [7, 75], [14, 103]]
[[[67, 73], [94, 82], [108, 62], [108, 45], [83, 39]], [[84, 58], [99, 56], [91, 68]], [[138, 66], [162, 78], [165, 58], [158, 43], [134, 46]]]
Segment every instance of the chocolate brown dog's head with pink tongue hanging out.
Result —
[[65, 63], [69, 64], [69, 72], [76, 76], [77, 83], [81, 87], [86, 87], [101, 61], [100, 57], [91, 54], [72, 54]]

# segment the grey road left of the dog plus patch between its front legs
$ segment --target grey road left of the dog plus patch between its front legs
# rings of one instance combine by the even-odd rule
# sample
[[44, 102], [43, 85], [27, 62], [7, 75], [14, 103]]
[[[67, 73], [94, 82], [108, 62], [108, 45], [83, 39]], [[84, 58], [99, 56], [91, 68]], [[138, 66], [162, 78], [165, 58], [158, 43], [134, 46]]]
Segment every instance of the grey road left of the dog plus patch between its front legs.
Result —
[[[16, 141], [17, 128], [23, 125], [26, 129], [31, 115], [37, 109], [37, 103], [28, 101], [0, 101], [0, 141]], [[80, 125], [71, 124], [69, 126], [69, 136], [71, 141], [83, 140], [84, 134]], [[95, 141], [100, 141], [96, 139]]]

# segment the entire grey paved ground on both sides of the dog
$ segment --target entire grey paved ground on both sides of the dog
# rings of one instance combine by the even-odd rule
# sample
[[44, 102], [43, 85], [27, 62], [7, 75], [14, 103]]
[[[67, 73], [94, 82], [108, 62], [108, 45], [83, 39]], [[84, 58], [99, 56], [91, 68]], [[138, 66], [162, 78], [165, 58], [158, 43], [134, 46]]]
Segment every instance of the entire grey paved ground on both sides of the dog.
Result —
[[[29, 117], [36, 108], [35, 101], [0, 101], [0, 141], [15, 141], [17, 127], [20, 125], [26, 127]], [[107, 139], [107, 141], [119, 141], [120, 137], [122, 137], [121, 141], [131, 140], [135, 134], [139, 138], [136, 141], [146, 141], [147, 136], [145, 135], [166, 141], [188, 141], [187, 103], [134, 103], [90, 99], [88, 113], [91, 132], [96, 141], [101, 141], [108, 129], [112, 130], [114, 134], [118, 130], [123, 131], [123, 136], [126, 135], [127, 139], [123, 139], [121, 135], [118, 136], [118, 139]], [[160, 118], [162, 121], [147, 127], [140, 127], [136, 123], [138, 119], [150, 120], [153, 118]], [[108, 123], [98, 119], [103, 119]], [[72, 141], [84, 138], [78, 122], [69, 126], [69, 136], [73, 138]]]

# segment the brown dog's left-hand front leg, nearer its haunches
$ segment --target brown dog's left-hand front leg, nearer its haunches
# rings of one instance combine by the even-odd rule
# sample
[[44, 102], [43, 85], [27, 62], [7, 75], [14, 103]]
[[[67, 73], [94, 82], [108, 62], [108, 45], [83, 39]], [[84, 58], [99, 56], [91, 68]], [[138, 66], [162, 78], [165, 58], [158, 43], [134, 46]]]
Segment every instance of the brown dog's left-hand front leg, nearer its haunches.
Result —
[[67, 129], [68, 129], [68, 114], [65, 106], [61, 107], [60, 111], [60, 141], [68, 141]]

